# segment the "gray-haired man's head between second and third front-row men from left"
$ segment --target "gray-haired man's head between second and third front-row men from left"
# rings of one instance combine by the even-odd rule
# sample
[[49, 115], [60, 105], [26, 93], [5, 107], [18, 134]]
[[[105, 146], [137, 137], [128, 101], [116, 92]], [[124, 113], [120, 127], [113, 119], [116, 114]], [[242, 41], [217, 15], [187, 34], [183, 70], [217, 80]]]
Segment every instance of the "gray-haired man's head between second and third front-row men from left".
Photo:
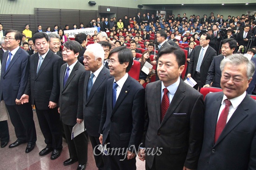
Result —
[[60, 35], [56, 33], [49, 33], [48, 38], [50, 43], [49, 44], [50, 50], [62, 58], [62, 53], [60, 52], [60, 47], [61, 47]]

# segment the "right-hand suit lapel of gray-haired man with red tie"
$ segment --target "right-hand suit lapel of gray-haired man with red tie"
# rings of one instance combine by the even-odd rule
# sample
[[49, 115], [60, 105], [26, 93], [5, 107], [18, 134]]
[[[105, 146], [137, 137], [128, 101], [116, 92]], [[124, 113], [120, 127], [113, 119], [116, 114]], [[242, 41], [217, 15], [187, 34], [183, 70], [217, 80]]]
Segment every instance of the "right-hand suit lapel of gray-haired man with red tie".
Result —
[[250, 98], [249, 95], [246, 95], [242, 103], [237, 107], [236, 111], [233, 113], [228, 123], [224, 127], [216, 144], [219, 144], [224, 137], [226, 137], [241, 121], [243, 121], [244, 118], [248, 116], [247, 110], [249, 110], [249, 105], [248, 105], [249, 98]]

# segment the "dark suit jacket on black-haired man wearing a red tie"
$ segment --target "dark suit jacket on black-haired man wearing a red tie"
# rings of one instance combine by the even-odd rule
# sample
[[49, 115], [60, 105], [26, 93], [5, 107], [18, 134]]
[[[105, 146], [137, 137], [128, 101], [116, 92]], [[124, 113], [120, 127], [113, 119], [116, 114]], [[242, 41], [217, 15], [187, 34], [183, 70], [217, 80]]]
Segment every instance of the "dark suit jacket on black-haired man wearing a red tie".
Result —
[[203, 96], [180, 79], [161, 122], [161, 83], [146, 87], [142, 142], [150, 151], [162, 148], [161, 155], [146, 155], [146, 164], [151, 168], [155, 159], [157, 170], [196, 169], [203, 138]]

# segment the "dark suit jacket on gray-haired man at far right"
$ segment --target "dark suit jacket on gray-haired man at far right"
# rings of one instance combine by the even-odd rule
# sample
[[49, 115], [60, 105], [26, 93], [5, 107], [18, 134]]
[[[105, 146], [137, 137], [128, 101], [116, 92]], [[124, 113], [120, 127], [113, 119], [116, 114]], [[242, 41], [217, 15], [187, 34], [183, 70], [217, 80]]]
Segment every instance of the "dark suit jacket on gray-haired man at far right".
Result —
[[223, 92], [215, 92], [204, 100], [204, 137], [197, 170], [256, 170], [256, 102], [246, 95], [214, 144], [222, 98]]

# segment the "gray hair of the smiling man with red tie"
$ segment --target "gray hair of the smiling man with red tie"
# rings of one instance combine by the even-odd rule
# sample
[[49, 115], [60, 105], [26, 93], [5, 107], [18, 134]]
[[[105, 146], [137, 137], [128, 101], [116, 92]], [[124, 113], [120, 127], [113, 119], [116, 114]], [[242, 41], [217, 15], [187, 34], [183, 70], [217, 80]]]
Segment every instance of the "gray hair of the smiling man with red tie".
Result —
[[232, 54], [229, 57], [226, 57], [225, 59], [223, 59], [220, 65], [221, 71], [223, 71], [224, 66], [227, 63], [234, 66], [241, 65], [241, 64], [246, 65], [246, 75], [248, 80], [252, 78], [255, 72], [254, 62], [247, 59], [245, 56], [243, 56], [243, 54]]

